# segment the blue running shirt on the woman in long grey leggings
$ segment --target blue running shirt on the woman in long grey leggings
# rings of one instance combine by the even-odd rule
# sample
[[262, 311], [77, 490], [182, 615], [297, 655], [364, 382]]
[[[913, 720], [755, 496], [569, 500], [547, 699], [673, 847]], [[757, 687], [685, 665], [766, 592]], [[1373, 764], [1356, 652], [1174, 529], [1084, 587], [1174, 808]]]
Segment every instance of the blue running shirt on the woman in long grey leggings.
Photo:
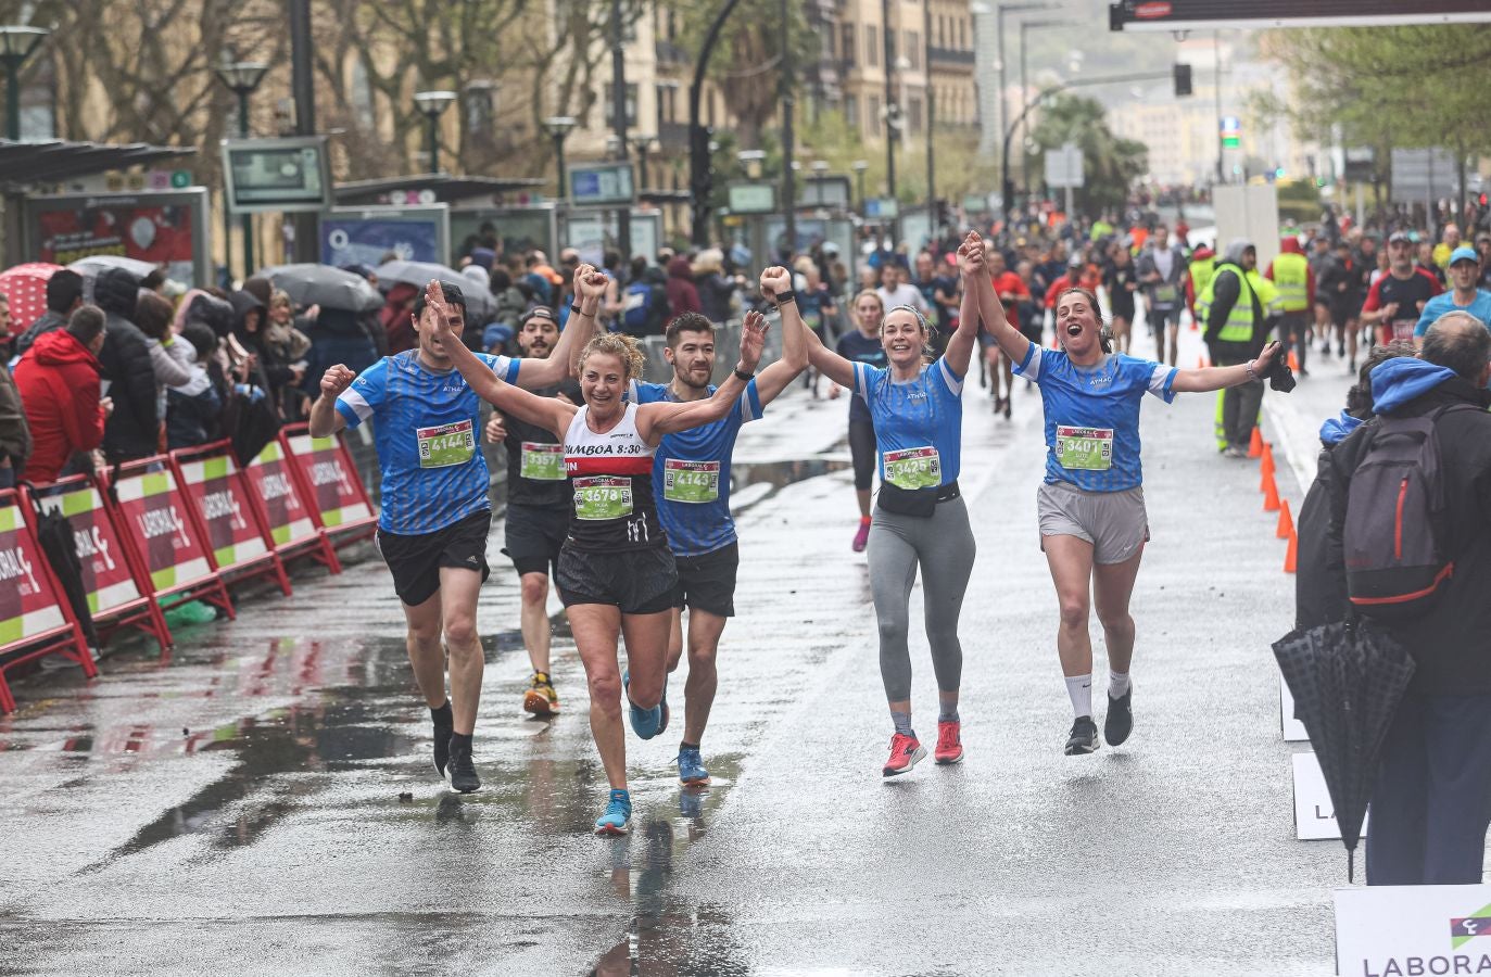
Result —
[[939, 488], [957, 480], [963, 449], [963, 377], [947, 359], [896, 382], [890, 368], [854, 364], [854, 395], [875, 422], [880, 480], [904, 489]]

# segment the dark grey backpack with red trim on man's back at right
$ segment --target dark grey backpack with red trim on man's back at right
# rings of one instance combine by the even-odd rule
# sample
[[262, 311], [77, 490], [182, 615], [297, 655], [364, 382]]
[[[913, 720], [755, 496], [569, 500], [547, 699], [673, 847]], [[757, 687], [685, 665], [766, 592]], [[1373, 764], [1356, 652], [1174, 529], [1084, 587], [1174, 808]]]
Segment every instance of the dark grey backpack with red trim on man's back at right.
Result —
[[1379, 416], [1346, 492], [1346, 595], [1382, 622], [1427, 613], [1455, 573], [1445, 525], [1445, 480], [1436, 425], [1451, 404], [1418, 418]]

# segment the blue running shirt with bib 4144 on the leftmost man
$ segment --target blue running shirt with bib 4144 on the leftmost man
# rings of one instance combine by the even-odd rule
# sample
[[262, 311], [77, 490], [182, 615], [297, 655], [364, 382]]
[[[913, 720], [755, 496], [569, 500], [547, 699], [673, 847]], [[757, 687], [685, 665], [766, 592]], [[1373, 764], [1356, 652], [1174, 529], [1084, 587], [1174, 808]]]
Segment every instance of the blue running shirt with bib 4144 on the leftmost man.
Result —
[[[501, 379], [517, 383], [520, 361], [477, 354]], [[383, 470], [385, 533], [422, 535], [491, 507], [491, 477], [479, 444], [482, 398], [456, 371], [432, 373], [419, 351], [383, 356], [337, 397], [349, 428], [374, 418]]]

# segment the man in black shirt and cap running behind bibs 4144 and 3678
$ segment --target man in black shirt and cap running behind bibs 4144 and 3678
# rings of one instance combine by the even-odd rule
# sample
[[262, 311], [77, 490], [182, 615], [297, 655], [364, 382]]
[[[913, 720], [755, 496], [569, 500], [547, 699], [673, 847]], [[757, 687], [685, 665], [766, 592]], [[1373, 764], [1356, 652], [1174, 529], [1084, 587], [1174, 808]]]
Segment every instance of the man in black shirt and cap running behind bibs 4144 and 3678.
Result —
[[[583, 304], [587, 285], [579, 282], [576, 288], [580, 292], [577, 304]], [[517, 346], [526, 359], [547, 359], [558, 342], [559, 324], [549, 306], [523, 313]], [[570, 404], [580, 403], [580, 385], [573, 377], [534, 392], [562, 397]], [[570, 479], [564, 471], [564, 446], [546, 428], [501, 413], [494, 413], [486, 422], [486, 440], [507, 449], [502, 552], [513, 561], [522, 583], [519, 623], [528, 662], [534, 668], [523, 692], [523, 710], [534, 716], [552, 716], [559, 711], [559, 692], [549, 676], [549, 573], [559, 564], [559, 547], [570, 534]]]

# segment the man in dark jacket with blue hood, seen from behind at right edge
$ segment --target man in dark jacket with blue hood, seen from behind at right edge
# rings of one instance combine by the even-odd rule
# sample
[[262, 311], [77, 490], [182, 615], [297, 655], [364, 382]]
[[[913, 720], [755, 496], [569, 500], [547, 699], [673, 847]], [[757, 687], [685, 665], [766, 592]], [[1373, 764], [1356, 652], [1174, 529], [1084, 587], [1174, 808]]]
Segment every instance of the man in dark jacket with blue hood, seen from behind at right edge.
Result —
[[[1367, 885], [1481, 882], [1491, 825], [1491, 333], [1451, 312], [1428, 328], [1419, 359], [1393, 359], [1372, 374], [1378, 413], [1434, 422], [1454, 574], [1434, 607], [1388, 625], [1418, 668], [1382, 746], [1372, 791]], [[1375, 425], [1331, 456], [1330, 531], [1342, 540], [1352, 473]]]

